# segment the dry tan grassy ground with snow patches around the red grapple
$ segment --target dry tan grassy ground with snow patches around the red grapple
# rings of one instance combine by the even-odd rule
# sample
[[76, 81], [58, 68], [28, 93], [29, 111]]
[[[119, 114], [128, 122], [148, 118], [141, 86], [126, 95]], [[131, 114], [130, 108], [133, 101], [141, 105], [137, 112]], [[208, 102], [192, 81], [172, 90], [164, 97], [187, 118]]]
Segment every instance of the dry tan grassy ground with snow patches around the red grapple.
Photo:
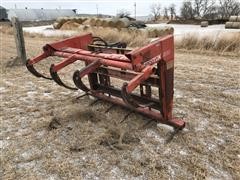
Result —
[[[52, 39], [25, 41], [33, 57]], [[176, 52], [174, 115], [187, 125], [168, 141], [170, 127], [138, 114], [120, 123], [127, 110], [90, 106], [82, 92], [11, 67], [15, 56], [1, 34], [1, 179], [240, 179], [239, 57]], [[69, 83], [77, 68], [63, 70]]]

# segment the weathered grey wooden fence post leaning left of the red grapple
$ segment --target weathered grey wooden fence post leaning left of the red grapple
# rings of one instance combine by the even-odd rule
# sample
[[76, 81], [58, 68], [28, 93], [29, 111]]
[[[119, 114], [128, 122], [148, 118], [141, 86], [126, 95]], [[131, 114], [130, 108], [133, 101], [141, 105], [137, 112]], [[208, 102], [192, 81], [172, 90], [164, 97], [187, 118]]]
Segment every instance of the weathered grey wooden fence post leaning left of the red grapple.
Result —
[[22, 24], [16, 17], [12, 17], [12, 25], [17, 49], [17, 60], [21, 60], [22, 64], [26, 64], [27, 56], [23, 37]]

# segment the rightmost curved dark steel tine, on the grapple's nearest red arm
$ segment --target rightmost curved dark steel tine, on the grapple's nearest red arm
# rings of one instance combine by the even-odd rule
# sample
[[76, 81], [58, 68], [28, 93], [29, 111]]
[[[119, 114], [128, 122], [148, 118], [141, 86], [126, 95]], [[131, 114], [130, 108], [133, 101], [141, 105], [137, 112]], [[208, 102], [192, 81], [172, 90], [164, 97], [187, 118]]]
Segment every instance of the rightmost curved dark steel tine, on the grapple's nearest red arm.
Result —
[[123, 83], [123, 86], [122, 86], [122, 91], [121, 91], [121, 94], [122, 94], [122, 98], [123, 98], [123, 101], [134, 107], [134, 108], [138, 108], [138, 107], [142, 107], [142, 108], [145, 108], [145, 107], [151, 107], [152, 105], [154, 105], [153, 102], [151, 103], [147, 103], [147, 104], [141, 104], [139, 103], [138, 101], [136, 101], [134, 98], [132, 98], [132, 96], [127, 92], [127, 86], [128, 84], [125, 82]]

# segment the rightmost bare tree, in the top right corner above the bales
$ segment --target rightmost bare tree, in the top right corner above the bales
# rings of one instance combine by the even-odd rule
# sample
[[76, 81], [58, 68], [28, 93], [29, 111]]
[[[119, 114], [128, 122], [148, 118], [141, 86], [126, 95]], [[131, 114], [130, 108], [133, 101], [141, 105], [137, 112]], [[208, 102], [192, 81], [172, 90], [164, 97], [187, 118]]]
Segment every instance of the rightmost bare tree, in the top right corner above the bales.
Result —
[[219, 4], [219, 14], [222, 19], [240, 14], [240, 2], [238, 0], [219, 0]]

